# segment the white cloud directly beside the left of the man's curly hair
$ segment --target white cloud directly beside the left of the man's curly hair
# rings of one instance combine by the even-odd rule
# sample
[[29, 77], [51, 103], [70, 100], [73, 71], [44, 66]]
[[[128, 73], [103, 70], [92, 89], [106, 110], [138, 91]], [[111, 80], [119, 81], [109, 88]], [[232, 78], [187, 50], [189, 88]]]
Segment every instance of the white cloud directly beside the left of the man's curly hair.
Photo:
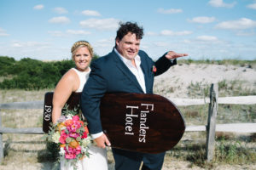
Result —
[[80, 21], [80, 26], [85, 28], [95, 28], [97, 30], [116, 30], [119, 20], [109, 19], [88, 19]]

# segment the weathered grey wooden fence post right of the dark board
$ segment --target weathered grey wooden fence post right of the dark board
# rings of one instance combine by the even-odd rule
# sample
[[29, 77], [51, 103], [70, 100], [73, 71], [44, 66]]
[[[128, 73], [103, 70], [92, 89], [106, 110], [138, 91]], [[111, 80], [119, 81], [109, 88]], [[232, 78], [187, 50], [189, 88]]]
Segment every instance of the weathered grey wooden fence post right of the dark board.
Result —
[[218, 84], [212, 84], [210, 89], [210, 104], [207, 122], [207, 161], [212, 161], [215, 149], [215, 127], [218, 111]]

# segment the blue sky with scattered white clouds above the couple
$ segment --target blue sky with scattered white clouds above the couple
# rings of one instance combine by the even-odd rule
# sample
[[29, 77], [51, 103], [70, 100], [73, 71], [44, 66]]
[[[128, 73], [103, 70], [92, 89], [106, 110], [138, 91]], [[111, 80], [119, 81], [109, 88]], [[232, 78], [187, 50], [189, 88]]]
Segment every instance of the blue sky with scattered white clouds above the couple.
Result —
[[187, 59], [256, 59], [256, 0], [0, 0], [0, 55], [70, 59], [78, 40], [108, 54], [119, 21], [144, 28], [141, 49]]

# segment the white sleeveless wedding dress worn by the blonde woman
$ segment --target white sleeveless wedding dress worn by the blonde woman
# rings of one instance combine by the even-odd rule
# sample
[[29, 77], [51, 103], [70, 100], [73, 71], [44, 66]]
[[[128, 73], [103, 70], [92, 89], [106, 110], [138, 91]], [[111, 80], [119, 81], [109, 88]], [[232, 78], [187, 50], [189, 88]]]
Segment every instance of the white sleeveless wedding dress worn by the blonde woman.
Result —
[[[89, 77], [88, 72], [81, 72], [77, 69], [74, 69], [79, 76], [80, 85], [79, 89], [76, 92], [82, 92], [84, 84]], [[77, 170], [108, 170], [108, 159], [107, 159], [107, 149], [102, 149], [94, 145], [89, 147], [89, 157], [85, 157], [82, 160], [79, 160], [77, 163]], [[64, 160], [61, 160], [61, 170], [74, 170], [71, 163], [65, 164]]]

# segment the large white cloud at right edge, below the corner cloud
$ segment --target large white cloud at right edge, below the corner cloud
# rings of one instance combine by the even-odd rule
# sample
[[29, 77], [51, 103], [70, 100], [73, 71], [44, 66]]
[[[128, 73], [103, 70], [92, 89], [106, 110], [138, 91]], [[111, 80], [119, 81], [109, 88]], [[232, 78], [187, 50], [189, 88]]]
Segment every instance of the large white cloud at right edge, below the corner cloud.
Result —
[[228, 20], [219, 23], [216, 28], [227, 30], [243, 30], [256, 27], [256, 20], [241, 18], [240, 20]]

